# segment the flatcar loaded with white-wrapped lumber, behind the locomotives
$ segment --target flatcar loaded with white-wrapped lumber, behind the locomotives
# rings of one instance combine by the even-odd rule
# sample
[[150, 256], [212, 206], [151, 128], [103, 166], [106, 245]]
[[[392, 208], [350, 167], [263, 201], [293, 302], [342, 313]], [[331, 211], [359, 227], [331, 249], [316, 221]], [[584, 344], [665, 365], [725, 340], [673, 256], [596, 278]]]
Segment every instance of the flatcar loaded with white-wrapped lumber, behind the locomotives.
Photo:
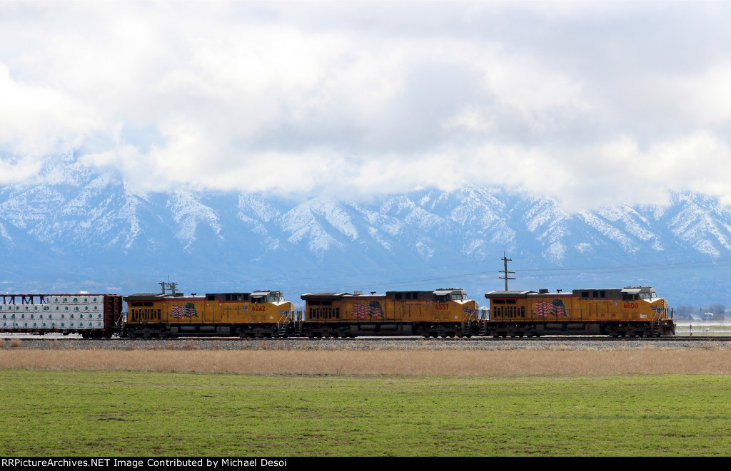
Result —
[[0, 332], [110, 338], [123, 320], [120, 295], [0, 295]]

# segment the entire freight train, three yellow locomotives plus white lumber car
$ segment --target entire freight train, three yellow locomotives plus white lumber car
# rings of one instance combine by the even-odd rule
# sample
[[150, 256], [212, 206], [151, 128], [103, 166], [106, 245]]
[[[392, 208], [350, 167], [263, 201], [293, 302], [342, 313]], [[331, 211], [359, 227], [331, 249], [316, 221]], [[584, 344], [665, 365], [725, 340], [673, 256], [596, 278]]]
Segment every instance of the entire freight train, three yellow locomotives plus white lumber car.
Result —
[[672, 311], [650, 287], [493, 291], [485, 294], [488, 309], [458, 288], [319, 292], [302, 295], [305, 310], [295, 311], [274, 290], [186, 296], [175, 284], [161, 285], [162, 292], [124, 297], [126, 313], [120, 295], [0, 295], [0, 332], [91, 338], [675, 334]]

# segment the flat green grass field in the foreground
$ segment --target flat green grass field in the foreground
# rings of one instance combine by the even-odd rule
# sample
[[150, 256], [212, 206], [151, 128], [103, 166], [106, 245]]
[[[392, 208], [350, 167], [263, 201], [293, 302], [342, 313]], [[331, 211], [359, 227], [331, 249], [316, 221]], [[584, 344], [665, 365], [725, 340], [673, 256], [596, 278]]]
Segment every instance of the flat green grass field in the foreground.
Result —
[[727, 456], [728, 375], [0, 370], [0, 456]]

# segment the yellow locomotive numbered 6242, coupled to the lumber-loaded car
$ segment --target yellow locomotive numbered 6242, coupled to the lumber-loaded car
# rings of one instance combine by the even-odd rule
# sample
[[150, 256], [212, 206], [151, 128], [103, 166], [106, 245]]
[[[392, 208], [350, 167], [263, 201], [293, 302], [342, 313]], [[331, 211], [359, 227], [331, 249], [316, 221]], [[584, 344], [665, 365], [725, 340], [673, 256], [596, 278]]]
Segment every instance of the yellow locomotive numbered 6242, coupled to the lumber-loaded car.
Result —
[[[128, 312], [123, 336], [279, 337], [291, 327], [295, 307], [279, 291], [185, 296], [175, 292], [175, 284], [161, 284], [161, 293], [124, 298]], [[170, 293], [165, 285], [172, 285]]]

